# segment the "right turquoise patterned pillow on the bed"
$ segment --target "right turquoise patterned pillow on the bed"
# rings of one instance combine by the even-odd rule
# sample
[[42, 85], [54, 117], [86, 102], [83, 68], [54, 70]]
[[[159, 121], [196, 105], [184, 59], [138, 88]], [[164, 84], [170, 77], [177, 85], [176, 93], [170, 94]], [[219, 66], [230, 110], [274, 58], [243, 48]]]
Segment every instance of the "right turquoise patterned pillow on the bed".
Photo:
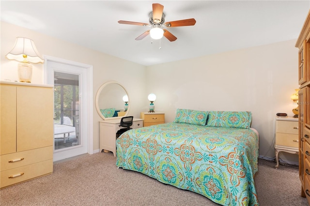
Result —
[[210, 111], [207, 126], [248, 129], [251, 122], [250, 111]]

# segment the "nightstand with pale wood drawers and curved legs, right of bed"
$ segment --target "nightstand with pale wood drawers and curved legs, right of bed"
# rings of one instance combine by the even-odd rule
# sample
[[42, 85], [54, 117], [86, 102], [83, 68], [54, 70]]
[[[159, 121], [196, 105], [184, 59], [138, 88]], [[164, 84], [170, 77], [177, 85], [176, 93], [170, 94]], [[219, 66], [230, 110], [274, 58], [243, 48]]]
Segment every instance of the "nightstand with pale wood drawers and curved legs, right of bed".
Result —
[[298, 154], [298, 118], [276, 117], [276, 169], [279, 167], [279, 153]]

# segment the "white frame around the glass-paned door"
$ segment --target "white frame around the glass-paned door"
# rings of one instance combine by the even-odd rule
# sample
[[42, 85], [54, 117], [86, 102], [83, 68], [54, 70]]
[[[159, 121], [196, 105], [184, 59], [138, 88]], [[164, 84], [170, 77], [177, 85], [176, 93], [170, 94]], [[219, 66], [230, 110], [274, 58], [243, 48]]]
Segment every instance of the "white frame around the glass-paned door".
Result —
[[47, 84], [47, 61], [49, 62], [56, 62], [56, 63], [63, 63], [63, 64], [69, 64], [81, 68], [86, 69], [87, 73], [87, 153], [88, 154], [93, 154], [93, 65], [90, 64], [85, 64], [85, 63], [78, 63], [78, 62], [73, 62], [61, 58], [56, 58], [56, 57], [51, 57], [44, 55], [44, 71], [43, 71], [43, 79], [45, 84]]

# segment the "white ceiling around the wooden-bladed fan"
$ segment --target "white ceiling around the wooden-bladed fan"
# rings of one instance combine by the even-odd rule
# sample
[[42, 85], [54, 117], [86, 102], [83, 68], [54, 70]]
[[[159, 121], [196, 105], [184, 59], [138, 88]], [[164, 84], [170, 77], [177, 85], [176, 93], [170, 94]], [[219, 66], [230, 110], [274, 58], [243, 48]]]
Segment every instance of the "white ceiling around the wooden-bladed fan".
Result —
[[[149, 28], [117, 21], [148, 23], [152, 3], [164, 6], [166, 22], [195, 18], [196, 25], [167, 28], [174, 42], [135, 40]], [[309, 8], [309, 0], [0, 1], [1, 21], [142, 65], [296, 39]]]

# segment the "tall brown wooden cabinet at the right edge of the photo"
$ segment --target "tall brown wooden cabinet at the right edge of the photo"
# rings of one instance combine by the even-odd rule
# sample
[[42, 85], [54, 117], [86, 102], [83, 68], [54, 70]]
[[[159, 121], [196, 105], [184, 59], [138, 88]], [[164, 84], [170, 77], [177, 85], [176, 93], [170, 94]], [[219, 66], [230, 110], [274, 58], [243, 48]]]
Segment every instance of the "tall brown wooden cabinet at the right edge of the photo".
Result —
[[298, 136], [299, 136], [299, 178], [301, 196], [310, 204], [310, 12], [304, 22], [295, 47], [298, 52]]

